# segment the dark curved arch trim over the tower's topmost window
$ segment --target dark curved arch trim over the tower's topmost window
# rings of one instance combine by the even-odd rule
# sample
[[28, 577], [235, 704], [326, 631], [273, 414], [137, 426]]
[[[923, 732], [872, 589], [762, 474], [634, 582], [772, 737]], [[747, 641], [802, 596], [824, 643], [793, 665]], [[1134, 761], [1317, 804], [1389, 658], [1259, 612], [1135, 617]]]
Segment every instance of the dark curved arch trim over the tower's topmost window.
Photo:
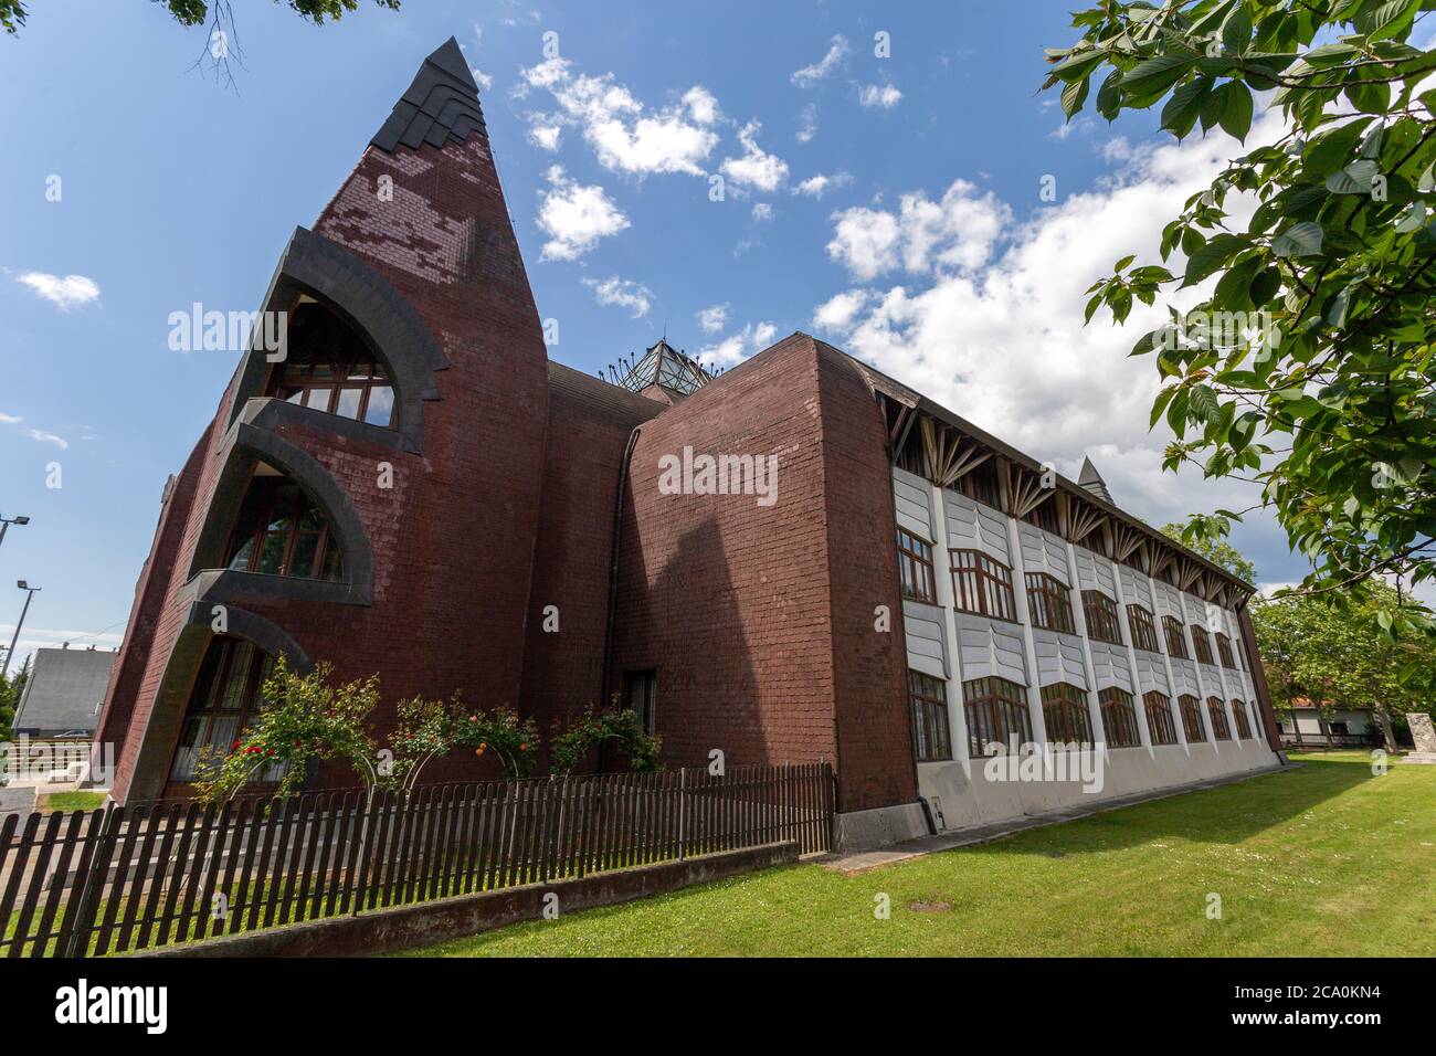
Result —
[[[263, 309], [284, 310], [300, 293], [314, 297], [349, 323], [378, 359], [388, 365], [398, 389], [399, 428], [405, 451], [424, 450], [424, 404], [439, 399], [435, 374], [448, 368], [428, 325], [389, 282], [349, 250], [296, 227], [264, 295]], [[269, 372], [263, 349], [251, 348], [240, 363], [228, 421], [261, 395]]]

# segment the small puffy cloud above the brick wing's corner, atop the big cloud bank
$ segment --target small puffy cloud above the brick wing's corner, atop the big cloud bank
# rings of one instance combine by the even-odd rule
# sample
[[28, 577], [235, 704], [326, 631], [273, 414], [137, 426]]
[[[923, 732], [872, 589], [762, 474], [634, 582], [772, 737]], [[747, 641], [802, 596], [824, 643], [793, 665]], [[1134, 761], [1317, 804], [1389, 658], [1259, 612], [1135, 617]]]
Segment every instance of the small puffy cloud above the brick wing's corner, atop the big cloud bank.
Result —
[[866, 282], [898, 267], [913, 274], [979, 267], [1012, 210], [991, 191], [978, 194], [974, 184], [956, 180], [938, 201], [918, 191], [902, 195], [896, 214], [854, 205], [834, 220], [829, 257]]

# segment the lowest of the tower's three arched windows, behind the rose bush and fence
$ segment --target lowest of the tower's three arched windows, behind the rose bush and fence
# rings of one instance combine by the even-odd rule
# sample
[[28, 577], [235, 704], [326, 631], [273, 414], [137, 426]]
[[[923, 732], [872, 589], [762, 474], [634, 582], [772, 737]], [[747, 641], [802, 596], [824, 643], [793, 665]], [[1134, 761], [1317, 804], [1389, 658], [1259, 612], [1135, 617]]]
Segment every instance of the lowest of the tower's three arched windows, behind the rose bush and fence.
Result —
[[[190, 691], [169, 780], [192, 782], [201, 776], [200, 764], [207, 754], [230, 753], [258, 715], [260, 685], [273, 662], [253, 642], [224, 636], [210, 639]], [[283, 766], [271, 766], [253, 780], [277, 782], [283, 773]]]

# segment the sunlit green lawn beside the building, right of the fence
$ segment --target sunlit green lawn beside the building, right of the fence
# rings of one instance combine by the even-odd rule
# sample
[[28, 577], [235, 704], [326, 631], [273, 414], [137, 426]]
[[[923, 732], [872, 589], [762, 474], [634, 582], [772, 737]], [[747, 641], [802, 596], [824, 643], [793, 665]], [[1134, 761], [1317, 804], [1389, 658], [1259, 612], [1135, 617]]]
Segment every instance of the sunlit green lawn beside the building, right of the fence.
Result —
[[1436, 954], [1436, 767], [1297, 759], [860, 875], [770, 869], [408, 955]]

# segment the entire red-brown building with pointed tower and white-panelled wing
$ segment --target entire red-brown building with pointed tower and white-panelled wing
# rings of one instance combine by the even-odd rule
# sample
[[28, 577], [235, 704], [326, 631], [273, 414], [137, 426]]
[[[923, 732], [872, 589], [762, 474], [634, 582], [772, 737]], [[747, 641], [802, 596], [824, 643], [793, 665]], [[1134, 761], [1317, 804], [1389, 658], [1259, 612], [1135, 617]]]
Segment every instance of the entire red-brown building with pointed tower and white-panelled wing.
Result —
[[[1061, 800], [979, 773], [1058, 727], [1117, 792], [1277, 759], [1251, 588], [1100, 480], [803, 333], [718, 378], [663, 342], [622, 384], [551, 362], [452, 40], [261, 309], [281, 349], [251, 345], [165, 487], [96, 734], [116, 800], [185, 795], [281, 652], [378, 671], [391, 710], [461, 690], [547, 727], [617, 693], [671, 766], [831, 760], [850, 845]], [[1088, 628], [1090, 595], [1166, 638]], [[1221, 665], [1186, 652], [1208, 631]]]

